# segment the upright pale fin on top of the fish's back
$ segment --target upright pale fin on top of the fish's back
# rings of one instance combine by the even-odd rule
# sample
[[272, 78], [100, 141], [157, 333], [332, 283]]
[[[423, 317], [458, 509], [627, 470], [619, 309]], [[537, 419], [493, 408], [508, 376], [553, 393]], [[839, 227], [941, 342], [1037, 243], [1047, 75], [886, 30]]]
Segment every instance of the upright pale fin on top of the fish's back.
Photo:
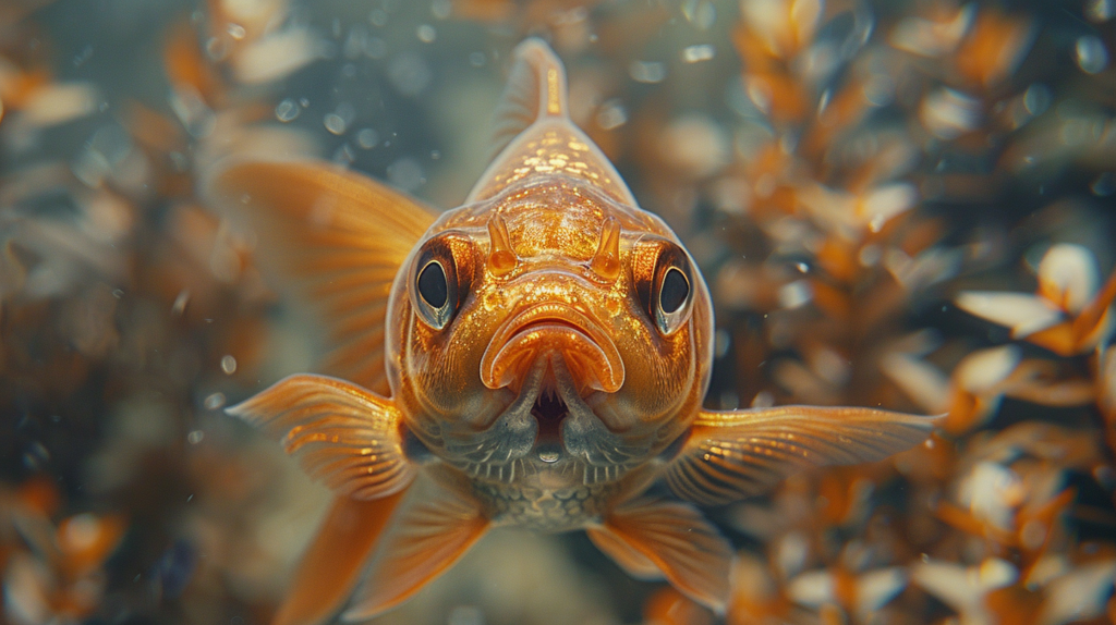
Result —
[[514, 51], [516, 62], [496, 108], [492, 131], [494, 158], [517, 135], [542, 117], [568, 117], [566, 71], [541, 40], [531, 38]]

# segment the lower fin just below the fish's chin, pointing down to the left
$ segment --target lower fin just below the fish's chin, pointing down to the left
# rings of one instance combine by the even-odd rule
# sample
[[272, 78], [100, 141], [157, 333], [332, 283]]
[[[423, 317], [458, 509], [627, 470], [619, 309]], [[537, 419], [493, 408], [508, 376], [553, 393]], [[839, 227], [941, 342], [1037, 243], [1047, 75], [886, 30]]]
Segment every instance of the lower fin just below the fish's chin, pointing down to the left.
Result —
[[445, 573], [488, 530], [489, 519], [466, 485], [450, 489], [423, 480], [422, 486], [430, 491], [408, 498], [397, 515], [344, 621], [365, 621], [400, 605]]

